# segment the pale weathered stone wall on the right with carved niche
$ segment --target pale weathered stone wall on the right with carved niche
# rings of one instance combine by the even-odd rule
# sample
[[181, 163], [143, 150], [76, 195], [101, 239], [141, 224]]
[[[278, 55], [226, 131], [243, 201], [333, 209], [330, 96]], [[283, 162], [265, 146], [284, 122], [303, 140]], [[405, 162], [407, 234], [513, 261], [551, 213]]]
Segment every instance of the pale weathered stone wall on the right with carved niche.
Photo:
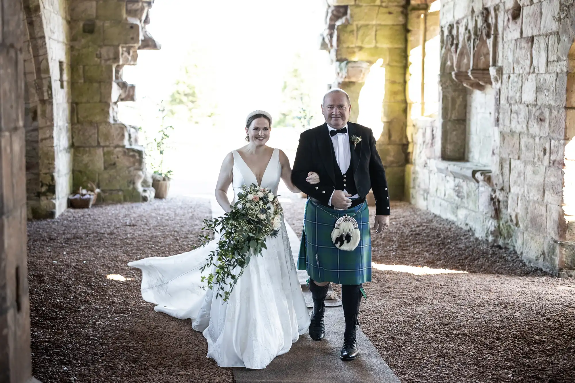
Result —
[[[575, 123], [566, 118], [573, 7], [559, 0], [453, 0], [442, 1], [440, 14], [440, 116], [415, 122], [412, 202], [514, 247], [536, 266], [574, 269], [572, 217], [563, 199], [565, 147]], [[468, 97], [478, 91], [493, 92], [493, 101], [484, 101], [494, 105]], [[488, 109], [492, 121], [478, 124], [493, 141], [470, 142], [470, 117]], [[467, 162], [470, 145], [490, 150], [490, 163]]]

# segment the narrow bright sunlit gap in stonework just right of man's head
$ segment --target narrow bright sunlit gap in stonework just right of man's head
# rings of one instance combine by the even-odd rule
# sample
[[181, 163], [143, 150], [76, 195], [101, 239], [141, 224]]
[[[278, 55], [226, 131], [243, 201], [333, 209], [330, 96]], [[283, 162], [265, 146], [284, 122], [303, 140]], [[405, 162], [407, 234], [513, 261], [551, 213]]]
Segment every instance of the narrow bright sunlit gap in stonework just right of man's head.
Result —
[[384, 59], [378, 59], [371, 66], [358, 99], [358, 124], [370, 127], [376, 140], [384, 131], [384, 123], [381, 121], [385, 97], [385, 67], [382, 67], [383, 63]]

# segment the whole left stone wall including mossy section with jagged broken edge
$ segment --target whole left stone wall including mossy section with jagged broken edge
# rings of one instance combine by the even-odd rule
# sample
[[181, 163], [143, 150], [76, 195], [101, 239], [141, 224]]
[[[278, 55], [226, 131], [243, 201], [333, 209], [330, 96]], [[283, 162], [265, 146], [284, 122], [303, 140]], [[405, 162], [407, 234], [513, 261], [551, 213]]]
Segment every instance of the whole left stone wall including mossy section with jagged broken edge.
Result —
[[28, 217], [57, 217], [89, 182], [105, 202], [153, 197], [141, 186], [137, 129], [116, 115], [118, 101], [135, 97], [123, 66], [136, 64], [137, 49], [160, 48], [145, 29], [153, 1], [22, 2]]

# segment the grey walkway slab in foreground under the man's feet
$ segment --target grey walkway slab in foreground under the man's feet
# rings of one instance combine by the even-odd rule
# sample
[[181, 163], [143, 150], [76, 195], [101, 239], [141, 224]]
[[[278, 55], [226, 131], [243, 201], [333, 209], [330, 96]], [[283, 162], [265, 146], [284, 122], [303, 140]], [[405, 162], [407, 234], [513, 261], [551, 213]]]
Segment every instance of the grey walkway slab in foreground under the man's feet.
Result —
[[266, 369], [233, 369], [236, 383], [399, 383], [399, 379], [381, 358], [373, 344], [358, 330], [359, 357], [343, 362], [339, 353], [345, 322], [341, 307], [325, 309], [325, 339], [316, 342], [308, 334], [276, 357]]

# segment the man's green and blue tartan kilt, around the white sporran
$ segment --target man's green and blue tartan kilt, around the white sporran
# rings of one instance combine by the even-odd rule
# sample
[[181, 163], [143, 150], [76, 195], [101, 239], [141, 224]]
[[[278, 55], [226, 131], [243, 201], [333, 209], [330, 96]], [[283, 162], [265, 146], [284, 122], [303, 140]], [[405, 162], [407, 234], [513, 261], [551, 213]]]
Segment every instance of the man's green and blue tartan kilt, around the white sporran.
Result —
[[[358, 247], [353, 251], [339, 250], [331, 240], [335, 221], [339, 217], [354, 214], [361, 232]], [[371, 235], [367, 202], [347, 210], [332, 210], [319, 206], [308, 198], [305, 203], [304, 229], [301, 232], [297, 268], [306, 270], [309, 277], [317, 282], [329, 281], [340, 285], [370, 282]]]

